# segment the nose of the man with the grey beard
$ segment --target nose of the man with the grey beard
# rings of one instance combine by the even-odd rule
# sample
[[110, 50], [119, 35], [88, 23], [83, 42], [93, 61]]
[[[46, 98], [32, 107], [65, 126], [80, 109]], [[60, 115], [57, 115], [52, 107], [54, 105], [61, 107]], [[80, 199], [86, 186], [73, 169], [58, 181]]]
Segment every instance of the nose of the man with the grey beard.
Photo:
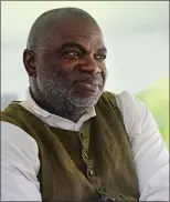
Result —
[[85, 58], [79, 70], [82, 72], [88, 72], [91, 74], [96, 74], [102, 72], [102, 68], [99, 68], [98, 62], [95, 60], [93, 55], [88, 55]]

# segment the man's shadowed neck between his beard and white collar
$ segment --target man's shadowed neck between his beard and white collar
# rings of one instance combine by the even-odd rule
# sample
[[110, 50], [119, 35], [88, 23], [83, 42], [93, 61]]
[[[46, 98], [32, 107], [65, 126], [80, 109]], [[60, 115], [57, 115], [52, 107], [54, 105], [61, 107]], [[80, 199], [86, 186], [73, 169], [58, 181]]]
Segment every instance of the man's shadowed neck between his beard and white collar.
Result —
[[75, 107], [71, 103], [64, 102], [63, 100], [56, 101], [57, 104], [54, 107], [44, 98], [42, 98], [41, 94], [38, 95], [38, 93], [33, 93], [33, 91], [30, 91], [30, 93], [32, 99], [40, 108], [52, 114], [68, 119], [73, 122], [77, 122], [84, 113], [93, 109], [92, 107]]

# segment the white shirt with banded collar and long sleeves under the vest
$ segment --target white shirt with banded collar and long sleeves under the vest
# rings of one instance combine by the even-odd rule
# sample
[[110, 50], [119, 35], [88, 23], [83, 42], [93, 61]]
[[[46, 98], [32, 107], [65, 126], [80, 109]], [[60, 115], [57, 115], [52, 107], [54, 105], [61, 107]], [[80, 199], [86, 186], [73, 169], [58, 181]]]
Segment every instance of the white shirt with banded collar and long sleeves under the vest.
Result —
[[[169, 151], [149, 110], [132, 94], [116, 94], [130, 140], [140, 201], [169, 201]], [[31, 98], [21, 105], [49, 125], [78, 131], [95, 110], [74, 123], [41, 109]], [[1, 200], [42, 201], [36, 174], [40, 169], [38, 143], [17, 125], [1, 122]], [[60, 185], [60, 184], [59, 184]]]

